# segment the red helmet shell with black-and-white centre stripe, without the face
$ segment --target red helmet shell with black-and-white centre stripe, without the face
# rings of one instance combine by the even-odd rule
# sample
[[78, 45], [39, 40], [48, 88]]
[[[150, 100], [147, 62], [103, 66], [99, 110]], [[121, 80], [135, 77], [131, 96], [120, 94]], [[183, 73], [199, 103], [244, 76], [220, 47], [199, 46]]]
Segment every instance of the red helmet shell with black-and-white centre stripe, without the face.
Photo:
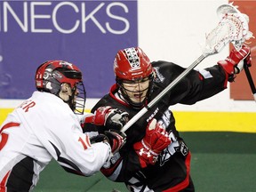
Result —
[[117, 52], [114, 72], [116, 78], [135, 80], [152, 75], [153, 68], [145, 52], [140, 47], [132, 47]]

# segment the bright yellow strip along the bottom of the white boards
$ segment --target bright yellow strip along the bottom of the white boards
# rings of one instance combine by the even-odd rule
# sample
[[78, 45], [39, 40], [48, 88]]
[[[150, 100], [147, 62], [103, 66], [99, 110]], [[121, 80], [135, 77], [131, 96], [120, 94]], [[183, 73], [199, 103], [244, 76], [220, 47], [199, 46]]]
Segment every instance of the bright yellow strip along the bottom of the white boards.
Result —
[[[0, 108], [0, 124], [12, 110]], [[179, 132], [256, 132], [256, 113], [252, 112], [174, 111], [173, 114]]]

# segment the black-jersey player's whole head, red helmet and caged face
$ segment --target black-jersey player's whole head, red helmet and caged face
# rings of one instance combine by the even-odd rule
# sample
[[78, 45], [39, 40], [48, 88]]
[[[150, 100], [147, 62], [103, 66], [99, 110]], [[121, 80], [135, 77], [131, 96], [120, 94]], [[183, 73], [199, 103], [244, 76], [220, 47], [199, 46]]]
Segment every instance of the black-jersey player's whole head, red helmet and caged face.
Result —
[[139, 47], [120, 50], [114, 60], [114, 72], [124, 100], [133, 108], [143, 107], [153, 90], [154, 69], [148, 56]]

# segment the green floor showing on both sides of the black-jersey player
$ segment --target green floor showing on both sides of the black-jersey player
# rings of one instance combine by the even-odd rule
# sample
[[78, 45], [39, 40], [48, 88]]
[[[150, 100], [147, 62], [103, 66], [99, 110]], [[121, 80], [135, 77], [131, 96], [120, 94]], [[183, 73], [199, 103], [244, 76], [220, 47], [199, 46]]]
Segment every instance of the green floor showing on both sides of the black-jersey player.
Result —
[[[256, 134], [181, 132], [192, 152], [191, 175], [196, 192], [256, 191]], [[40, 175], [36, 192], [112, 192], [127, 189], [99, 172], [84, 178], [52, 162]]]

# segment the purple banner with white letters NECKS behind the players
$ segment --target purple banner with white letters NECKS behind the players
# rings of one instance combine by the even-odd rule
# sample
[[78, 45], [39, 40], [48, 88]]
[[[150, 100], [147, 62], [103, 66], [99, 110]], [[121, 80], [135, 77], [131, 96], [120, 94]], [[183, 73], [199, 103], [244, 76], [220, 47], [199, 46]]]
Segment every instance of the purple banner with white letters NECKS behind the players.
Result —
[[138, 45], [137, 18], [137, 1], [1, 1], [0, 99], [27, 99], [45, 60], [76, 64], [87, 97], [100, 98], [116, 52]]

